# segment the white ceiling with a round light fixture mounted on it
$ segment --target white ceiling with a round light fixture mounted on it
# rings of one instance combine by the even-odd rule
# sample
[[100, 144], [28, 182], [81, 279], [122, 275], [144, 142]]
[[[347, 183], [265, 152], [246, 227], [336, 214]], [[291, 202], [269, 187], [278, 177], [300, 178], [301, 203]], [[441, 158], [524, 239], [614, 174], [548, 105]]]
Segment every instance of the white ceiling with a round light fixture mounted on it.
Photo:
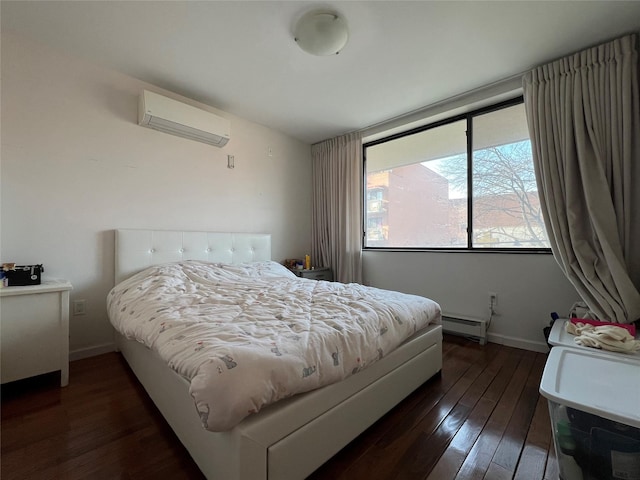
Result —
[[[293, 40], [343, 14], [339, 55]], [[2, 29], [315, 143], [640, 31], [640, 1], [8, 1]]]

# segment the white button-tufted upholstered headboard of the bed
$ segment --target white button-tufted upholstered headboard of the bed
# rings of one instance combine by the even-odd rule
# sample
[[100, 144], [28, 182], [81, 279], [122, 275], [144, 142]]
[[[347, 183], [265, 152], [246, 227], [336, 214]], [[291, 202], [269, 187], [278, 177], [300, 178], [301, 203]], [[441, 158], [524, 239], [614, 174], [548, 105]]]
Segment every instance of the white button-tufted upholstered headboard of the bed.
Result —
[[116, 284], [160, 263], [181, 260], [242, 263], [271, 260], [268, 233], [116, 230]]

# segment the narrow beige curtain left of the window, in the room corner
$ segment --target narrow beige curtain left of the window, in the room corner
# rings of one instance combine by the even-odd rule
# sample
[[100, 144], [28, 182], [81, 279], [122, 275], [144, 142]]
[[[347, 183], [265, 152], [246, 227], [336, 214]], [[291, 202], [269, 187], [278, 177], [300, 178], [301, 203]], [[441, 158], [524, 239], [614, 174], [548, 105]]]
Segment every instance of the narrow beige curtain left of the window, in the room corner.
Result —
[[335, 280], [362, 282], [362, 136], [344, 135], [311, 147], [311, 255]]

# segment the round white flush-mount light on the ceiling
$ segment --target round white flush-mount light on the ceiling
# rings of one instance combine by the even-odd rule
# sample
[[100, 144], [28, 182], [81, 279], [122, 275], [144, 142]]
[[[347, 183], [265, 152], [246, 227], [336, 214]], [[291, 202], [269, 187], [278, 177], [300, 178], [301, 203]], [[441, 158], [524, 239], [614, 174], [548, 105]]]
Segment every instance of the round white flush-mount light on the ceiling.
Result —
[[326, 10], [305, 13], [294, 34], [300, 48], [311, 55], [336, 55], [349, 39], [344, 17]]

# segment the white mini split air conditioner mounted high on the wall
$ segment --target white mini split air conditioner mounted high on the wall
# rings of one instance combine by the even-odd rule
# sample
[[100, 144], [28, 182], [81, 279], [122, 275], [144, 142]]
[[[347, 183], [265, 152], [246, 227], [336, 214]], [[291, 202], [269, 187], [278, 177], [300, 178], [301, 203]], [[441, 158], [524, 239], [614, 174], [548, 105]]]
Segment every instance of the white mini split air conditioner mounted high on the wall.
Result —
[[140, 94], [138, 124], [216, 147], [224, 147], [231, 135], [226, 118], [147, 90]]

